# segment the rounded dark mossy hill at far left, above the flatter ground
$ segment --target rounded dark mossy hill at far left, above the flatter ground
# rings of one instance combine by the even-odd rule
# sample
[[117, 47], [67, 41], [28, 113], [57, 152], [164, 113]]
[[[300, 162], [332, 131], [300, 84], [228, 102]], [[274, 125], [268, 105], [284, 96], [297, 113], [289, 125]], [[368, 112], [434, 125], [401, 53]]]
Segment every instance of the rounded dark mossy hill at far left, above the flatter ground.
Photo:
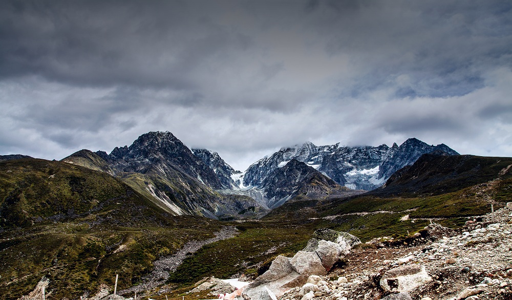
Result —
[[[0, 163], [0, 226], [102, 215], [129, 225], [151, 222], [164, 211], [111, 175], [41, 159]], [[147, 218], [147, 214], [154, 217]]]

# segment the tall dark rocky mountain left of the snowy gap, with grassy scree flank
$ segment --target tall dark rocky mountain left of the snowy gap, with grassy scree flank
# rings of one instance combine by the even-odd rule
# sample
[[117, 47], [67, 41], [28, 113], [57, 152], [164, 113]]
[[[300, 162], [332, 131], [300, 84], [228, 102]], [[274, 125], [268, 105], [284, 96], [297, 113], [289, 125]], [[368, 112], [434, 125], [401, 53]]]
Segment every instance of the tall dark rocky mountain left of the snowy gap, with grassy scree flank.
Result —
[[238, 212], [261, 206], [243, 195], [216, 192], [225, 188], [221, 177], [169, 132], [141, 135], [110, 155], [82, 150], [63, 161], [113, 174], [175, 216], [239, 217]]

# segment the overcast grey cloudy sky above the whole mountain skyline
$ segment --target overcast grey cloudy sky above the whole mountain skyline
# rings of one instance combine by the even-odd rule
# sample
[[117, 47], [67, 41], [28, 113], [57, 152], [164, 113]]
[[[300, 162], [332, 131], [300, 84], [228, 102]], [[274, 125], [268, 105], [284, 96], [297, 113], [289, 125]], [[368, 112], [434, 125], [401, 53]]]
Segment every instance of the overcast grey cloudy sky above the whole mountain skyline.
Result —
[[150, 131], [240, 170], [306, 141], [512, 157], [512, 2], [0, 2], [0, 155]]

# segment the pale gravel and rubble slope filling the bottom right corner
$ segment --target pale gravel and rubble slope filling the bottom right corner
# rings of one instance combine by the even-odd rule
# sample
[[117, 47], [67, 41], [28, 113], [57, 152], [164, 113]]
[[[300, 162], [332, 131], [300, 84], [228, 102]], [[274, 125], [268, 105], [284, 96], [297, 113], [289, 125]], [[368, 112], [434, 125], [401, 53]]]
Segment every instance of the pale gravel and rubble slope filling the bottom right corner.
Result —
[[[274, 268], [271, 266], [267, 271], [269, 274], [263, 274], [260, 276], [263, 278], [257, 278], [247, 288], [225, 297], [280, 300], [512, 299], [511, 208], [512, 203], [496, 211], [494, 217], [489, 213], [470, 219], [463, 230], [431, 224], [405, 240], [375, 239], [352, 248], [350, 253], [344, 252], [342, 258], [345, 257], [334, 264], [332, 270], [319, 269], [318, 274], [307, 277], [305, 284], [295, 287], [291, 285], [299, 282], [297, 277], [290, 280], [287, 263], [278, 256], [273, 262]], [[293, 264], [293, 259], [288, 261]], [[292, 269], [297, 270], [295, 267]], [[280, 271], [288, 282], [283, 284], [283, 277], [280, 277], [283, 274], [276, 274]], [[269, 278], [274, 278], [274, 281]], [[211, 280], [215, 284], [215, 280]], [[279, 288], [276, 288], [276, 283], [279, 283]], [[259, 287], [258, 294], [254, 294], [254, 287]], [[212, 295], [222, 292], [215, 286], [211, 288]], [[285, 291], [281, 292], [283, 289]]]

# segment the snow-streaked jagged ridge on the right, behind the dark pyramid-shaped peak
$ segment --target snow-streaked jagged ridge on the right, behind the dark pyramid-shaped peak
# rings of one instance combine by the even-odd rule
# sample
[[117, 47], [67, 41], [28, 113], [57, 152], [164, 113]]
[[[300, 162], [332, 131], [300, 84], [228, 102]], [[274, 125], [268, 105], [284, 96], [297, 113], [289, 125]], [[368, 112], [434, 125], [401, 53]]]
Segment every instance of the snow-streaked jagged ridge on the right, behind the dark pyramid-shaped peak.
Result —
[[312, 143], [282, 148], [270, 157], [252, 164], [244, 175], [245, 186], [262, 186], [266, 178], [292, 159], [306, 163], [340, 185], [353, 189], [372, 190], [400, 168], [413, 164], [421, 155], [442, 151], [457, 155], [450, 147], [428, 145], [411, 138], [400, 146], [340, 147], [339, 144], [315, 146]]

